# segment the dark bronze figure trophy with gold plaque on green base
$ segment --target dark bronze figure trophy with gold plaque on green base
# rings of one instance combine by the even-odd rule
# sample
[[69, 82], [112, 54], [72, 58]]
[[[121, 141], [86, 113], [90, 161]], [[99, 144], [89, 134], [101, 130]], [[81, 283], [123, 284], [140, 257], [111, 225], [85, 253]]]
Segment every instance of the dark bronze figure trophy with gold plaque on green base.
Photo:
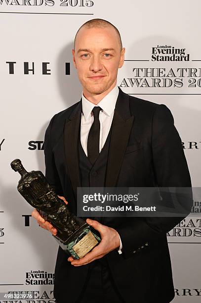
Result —
[[53, 237], [66, 253], [79, 259], [99, 244], [98, 231], [69, 211], [41, 171], [27, 172], [20, 159], [13, 160], [10, 165], [21, 175], [17, 186], [19, 193], [57, 229]]

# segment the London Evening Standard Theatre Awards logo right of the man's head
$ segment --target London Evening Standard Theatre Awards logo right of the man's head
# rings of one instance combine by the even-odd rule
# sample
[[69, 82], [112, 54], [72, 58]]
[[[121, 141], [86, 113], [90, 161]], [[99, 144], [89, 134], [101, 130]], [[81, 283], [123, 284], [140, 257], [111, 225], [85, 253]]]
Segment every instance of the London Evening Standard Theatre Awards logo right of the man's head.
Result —
[[[156, 45], [150, 47], [150, 57], [134, 58], [125, 61], [152, 61], [162, 66], [145, 66], [144, 63], [134, 63], [130, 66], [130, 73], [120, 80], [122, 88], [201, 88], [201, 68], [189, 66], [190, 54], [185, 48], [171, 45]], [[178, 63], [171, 66], [171, 62]], [[127, 63], [130, 64], [130, 63]], [[133, 64], [133, 63], [131, 63]], [[140, 64], [140, 65], [139, 65]], [[185, 65], [184, 65], [185, 64]], [[127, 65], [126, 65], [127, 66]], [[150, 91], [152, 92], [152, 91]]]

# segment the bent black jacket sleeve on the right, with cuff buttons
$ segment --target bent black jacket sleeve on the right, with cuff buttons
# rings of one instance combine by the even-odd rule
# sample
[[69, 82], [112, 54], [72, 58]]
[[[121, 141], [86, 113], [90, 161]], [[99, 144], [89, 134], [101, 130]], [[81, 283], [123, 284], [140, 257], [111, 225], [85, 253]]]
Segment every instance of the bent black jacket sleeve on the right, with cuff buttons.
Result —
[[[128, 258], [166, 237], [190, 213], [192, 205], [191, 178], [184, 155], [181, 138], [174, 126], [170, 110], [163, 104], [157, 105], [152, 121], [153, 169], [158, 187], [187, 187], [188, 211], [183, 217], [132, 217], [116, 228], [122, 241], [122, 255]], [[183, 198], [181, 198], [183, 199]], [[187, 198], [186, 198], [187, 199]], [[183, 202], [183, 201], [182, 201]], [[168, 201], [166, 202], [168, 203]]]

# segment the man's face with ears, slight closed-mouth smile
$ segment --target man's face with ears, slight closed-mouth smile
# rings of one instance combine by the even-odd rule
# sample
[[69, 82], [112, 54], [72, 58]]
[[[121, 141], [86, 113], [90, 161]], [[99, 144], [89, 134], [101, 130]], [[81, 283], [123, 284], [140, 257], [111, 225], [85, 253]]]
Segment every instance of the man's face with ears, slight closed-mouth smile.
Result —
[[116, 85], [125, 49], [113, 27], [81, 28], [72, 52], [83, 93], [102, 94]]

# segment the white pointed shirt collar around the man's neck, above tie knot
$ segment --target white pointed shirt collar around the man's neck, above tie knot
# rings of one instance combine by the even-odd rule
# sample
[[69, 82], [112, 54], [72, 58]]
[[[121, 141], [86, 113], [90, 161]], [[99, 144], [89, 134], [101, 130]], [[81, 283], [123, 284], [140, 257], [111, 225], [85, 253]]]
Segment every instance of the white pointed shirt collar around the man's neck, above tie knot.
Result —
[[108, 93], [97, 105], [91, 103], [88, 101], [84, 95], [83, 92], [81, 94], [81, 105], [82, 105], [82, 112], [84, 115], [85, 120], [87, 120], [90, 117], [91, 111], [94, 106], [100, 106], [103, 111], [105, 112], [106, 115], [111, 116], [114, 109], [115, 105], [117, 102], [117, 98], [119, 95], [119, 88], [116, 85], [110, 93]]

